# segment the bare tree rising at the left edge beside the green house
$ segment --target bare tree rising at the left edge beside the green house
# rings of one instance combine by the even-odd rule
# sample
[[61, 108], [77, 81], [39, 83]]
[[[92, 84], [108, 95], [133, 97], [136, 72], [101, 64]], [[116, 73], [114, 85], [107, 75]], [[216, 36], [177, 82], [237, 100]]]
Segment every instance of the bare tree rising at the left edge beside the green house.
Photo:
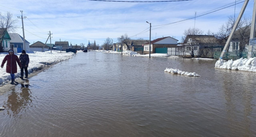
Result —
[[[15, 32], [18, 28], [16, 23], [18, 23], [18, 19], [12, 19], [12, 13], [6, 12], [5, 14], [2, 14], [0, 12], [0, 28], [4, 30], [3, 34], [5, 34], [6, 31]], [[4, 35], [0, 38], [0, 52], [4, 50], [2, 47], [3, 37]]]

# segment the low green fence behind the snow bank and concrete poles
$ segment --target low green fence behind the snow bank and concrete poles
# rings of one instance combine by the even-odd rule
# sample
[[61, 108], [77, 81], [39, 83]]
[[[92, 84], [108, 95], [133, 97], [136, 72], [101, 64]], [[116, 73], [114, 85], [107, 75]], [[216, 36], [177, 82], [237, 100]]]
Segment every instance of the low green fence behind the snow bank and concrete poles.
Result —
[[[214, 52], [214, 58], [215, 59], [219, 59], [221, 52]], [[239, 51], [229, 51], [229, 52], [225, 52], [225, 54], [223, 55], [222, 59], [224, 60], [237, 60], [240, 58], [247, 58], [247, 54], [248, 52], [243, 51], [243, 52], [239, 52]], [[253, 52], [252, 54], [252, 58], [256, 57], [256, 52]]]

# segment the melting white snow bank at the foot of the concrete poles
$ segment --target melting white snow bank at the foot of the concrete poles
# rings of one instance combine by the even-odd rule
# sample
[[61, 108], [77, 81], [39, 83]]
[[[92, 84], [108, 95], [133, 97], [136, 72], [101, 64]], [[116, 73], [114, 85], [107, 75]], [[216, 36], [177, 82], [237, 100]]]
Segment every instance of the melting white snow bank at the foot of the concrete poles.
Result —
[[256, 58], [240, 58], [235, 61], [232, 59], [229, 61], [220, 60], [215, 63], [215, 68], [256, 72]]

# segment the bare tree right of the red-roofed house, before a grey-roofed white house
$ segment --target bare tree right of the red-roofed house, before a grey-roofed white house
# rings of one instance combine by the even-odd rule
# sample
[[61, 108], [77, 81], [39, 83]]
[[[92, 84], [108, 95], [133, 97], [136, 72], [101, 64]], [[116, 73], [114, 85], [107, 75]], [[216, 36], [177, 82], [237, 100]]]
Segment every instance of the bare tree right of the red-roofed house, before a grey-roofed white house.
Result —
[[186, 47], [186, 52], [191, 55], [192, 58], [194, 58], [194, 46], [197, 44], [196, 41], [196, 35], [202, 35], [203, 31], [198, 28], [189, 28], [184, 31], [182, 42], [183, 45]]

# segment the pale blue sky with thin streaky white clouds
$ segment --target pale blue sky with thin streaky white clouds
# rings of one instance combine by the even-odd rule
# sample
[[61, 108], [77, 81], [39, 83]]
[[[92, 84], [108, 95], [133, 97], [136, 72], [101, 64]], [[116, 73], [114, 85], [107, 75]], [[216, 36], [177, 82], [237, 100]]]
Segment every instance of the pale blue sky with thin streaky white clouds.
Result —
[[[123, 0], [123, 1], [157, 1], [157, 0]], [[159, 0], [160, 1], [160, 0]], [[131, 39], [149, 39], [149, 24], [151, 23], [151, 40], [159, 37], [175, 37], [180, 41], [184, 30], [195, 27], [203, 30], [218, 32], [219, 27], [226, 22], [228, 16], [238, 16], [242, 2], [201, 17], [174, 23], [165, 27], [157, 25], [188, 19], [204, 12], [235, 2], [235, 0], [192, 0], [180, 2], [102, 2], [88, 0], [2, 0], [0, 12], [9, 11], [13, 18], [21, 16], [23, 11], [25, 39], [31, 44], [37, 41], [43, 43], [48, 38], [48, 31], [52, 33], [52, 43], [55, 41], [69, 41], [72, 44], [88, 44], [96, 41], [103, 44], [109, 37], [113, 43], [117, 37], [127, 33]], [[250, 0], [244, 12], [252, 16], [253, 0]], [[229, 6], [227, 5], [227, 6]], [[226, 6], [224, 6], [226, 7]], [[15, 33], [22, 33], [22, 22]], [[145, 31], [144, 31], [145, 30]], [[140, 33], [142, 32], [143, 33]], [[139, 34], [140, 33], [140, 34]], [[50, 43], [48, 40], [47, 43]]]

